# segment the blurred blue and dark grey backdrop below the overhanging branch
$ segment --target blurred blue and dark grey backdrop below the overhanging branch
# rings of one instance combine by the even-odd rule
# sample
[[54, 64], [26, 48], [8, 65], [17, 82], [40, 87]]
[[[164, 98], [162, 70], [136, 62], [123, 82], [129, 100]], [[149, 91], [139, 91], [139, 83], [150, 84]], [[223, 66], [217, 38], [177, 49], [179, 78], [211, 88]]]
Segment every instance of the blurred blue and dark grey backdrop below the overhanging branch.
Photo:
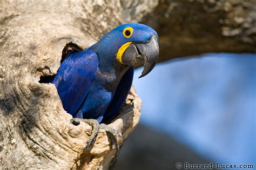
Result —
[[[189, 72], [188, 72], [189, 70]], [[256, 55], [209, 53], [134, 74], [142, 118], [116, 169], [190, 164], [254, 164]]]

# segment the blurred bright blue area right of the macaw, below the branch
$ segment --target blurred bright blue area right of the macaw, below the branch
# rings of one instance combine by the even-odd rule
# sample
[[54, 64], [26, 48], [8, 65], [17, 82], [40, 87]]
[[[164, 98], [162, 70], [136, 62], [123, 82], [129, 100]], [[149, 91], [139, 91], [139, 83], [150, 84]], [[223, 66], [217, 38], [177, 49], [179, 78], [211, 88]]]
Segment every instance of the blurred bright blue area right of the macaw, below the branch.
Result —
[[225, 164], [256, 166], [256, 54], [210, 53], [158, 64], [134, 86], [140, 123]]

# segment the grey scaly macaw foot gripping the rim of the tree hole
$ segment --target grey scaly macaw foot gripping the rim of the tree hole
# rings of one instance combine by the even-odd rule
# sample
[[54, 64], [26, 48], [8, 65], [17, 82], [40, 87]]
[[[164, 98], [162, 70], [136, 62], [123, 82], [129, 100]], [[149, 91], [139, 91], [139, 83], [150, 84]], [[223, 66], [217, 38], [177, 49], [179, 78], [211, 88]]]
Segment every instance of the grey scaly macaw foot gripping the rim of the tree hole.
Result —
[[92, 126], [92, 133], [91, 133], [91, 136], [89, 137], [89, 139], [86, 141], [86, 146], [83, 148], [83, 150], [87, 149], [91, 143], [93, 141], [95, 141], [98, 133], [99, 133], [99, 130], [100, 129], [103, 129], [105, 130], [106, 132], [112, 134], [111, 137], [112, 137], [112, 142], [113, 142], [113, 145], [114, 145], [114, 148], [117, 149], [117, 153], [116, 153], [116, 156], [119, 154], [119, 146], [118, 146], [118, 142], [117, 142], [117, 135], [119, 135], [119, 137], [122, 139], [122, 133], [114, 130], [112, 127], [110, 127], [109, 125], [106, 125], [106, 124], [99, 124], [98, 121], [96, 119], [80, 119], [80, 118], [73, 118], [70, 120], [71, 123], [76, 123], [76, 124], [79, 124], [80, 121], [83, 121], [84, 123], [86, 124], [89, 124], [90, 126]]

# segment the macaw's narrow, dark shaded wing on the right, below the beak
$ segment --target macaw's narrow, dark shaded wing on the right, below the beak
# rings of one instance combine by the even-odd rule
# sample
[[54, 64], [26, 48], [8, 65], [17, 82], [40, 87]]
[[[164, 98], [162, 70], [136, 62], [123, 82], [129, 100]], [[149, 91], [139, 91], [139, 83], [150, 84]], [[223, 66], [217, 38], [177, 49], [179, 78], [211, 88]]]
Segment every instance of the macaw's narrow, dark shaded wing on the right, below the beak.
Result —
[[114, 93], [114, 97], [104, 114], [102, 123], [110, 123], [121, 110], [132, 86], [133, 72], [134, 69], [133, 66], [131, 66], [120, 80], [116, 93]]

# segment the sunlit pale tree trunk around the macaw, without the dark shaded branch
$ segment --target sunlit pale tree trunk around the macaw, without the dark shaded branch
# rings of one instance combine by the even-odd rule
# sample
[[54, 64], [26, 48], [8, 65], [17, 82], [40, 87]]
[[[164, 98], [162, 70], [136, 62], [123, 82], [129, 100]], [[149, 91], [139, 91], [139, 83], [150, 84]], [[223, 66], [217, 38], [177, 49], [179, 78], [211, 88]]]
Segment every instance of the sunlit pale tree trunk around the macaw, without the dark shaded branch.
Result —
[[[90, 151], [82, 151], [91, 126], [72, 125], [56, 87], [38, 82], [42, 76], [56, 74], [68, 47], [85, 49], [125, 22], [122, 16], [127, 9], [122, 3], [105, 3], [1, 1], [1, 168], [107, 169], [114, 162], [116, 149], [104, 130]], [[134, 6], [140, 13], [134, 19], [154, 4], [146, 9]], [[120, 146], [138, 124], [141, 106], [132, 88], [120, 115], [110, 124], [123, 134]]]

